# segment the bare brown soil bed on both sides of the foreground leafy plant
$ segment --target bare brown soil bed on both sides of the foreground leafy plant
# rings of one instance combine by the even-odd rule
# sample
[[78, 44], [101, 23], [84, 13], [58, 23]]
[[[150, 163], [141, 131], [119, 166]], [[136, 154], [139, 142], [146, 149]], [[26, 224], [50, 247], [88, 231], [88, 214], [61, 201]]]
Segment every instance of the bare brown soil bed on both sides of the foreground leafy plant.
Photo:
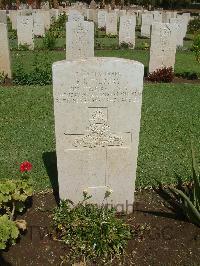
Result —
[[[153, 190], [136, 193], [127, 222], [144, 229], [129, 241], [122, 263], [115, 265], [200, 265], [200, 228], [172, 212], [158, 194]], [[67, 246], [50, 234], [55, 198], [52, 192], [33, 196], [32, 206], [22, 215], [28, 230], [15, 246], [2, 252], [1, 266], [72, 265], [62, 261]]]

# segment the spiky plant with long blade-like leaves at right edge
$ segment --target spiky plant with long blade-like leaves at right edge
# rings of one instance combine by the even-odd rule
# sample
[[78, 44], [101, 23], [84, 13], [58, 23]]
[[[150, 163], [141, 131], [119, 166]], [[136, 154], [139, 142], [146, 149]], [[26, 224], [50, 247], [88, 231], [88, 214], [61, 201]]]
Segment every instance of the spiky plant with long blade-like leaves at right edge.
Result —
[[179, 201], [184, 215], [191, 222], [200, 226], [200, 175], [192, 148], [192, 181], [188, 186], [180, 189], [171, 187], [170, 192]]

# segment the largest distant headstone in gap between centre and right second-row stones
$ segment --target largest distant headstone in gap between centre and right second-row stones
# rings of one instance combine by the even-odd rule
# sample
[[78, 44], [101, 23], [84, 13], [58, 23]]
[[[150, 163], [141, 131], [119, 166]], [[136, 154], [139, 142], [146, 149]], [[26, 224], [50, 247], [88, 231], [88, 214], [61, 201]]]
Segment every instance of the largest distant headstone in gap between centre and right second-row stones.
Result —
[[130, 47], [135, 47], [135, 16], [120, 17], [119, 44], [127, 43]]

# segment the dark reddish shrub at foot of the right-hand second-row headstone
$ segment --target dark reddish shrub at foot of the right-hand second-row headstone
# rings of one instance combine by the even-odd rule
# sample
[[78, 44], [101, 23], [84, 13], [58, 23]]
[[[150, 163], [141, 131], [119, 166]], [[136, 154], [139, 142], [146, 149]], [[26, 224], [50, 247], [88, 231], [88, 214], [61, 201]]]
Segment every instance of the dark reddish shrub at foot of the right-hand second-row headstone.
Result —
[[172, 82], [174, 79], [174, 72], [172, 67], [164, 67], [150, 73], [147, 80], [152, 82]]

